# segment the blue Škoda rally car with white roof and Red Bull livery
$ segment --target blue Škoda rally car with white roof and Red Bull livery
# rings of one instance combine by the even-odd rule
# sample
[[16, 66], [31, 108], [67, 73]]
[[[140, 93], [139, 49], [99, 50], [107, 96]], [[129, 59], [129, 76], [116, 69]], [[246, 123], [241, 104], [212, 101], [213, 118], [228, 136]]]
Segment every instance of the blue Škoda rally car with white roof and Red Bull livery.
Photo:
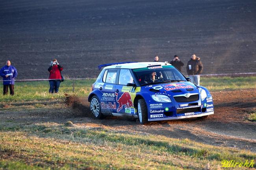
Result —
[[141, 124], [213, 114], [213, 98], [202, 86], [189, 82], [180, 71], [163, 62], [124, 62], [99, 65], [89, 94], [91, 112], [134, 116]]

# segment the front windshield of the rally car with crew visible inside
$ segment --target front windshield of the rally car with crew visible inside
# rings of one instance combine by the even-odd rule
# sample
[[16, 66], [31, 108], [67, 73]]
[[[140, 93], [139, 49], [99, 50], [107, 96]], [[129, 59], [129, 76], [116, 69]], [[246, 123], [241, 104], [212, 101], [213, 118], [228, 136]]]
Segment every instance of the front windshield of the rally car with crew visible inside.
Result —
[[173, 66], [160, 66], [158, 69], [134, 69], [134, 74], [140, 85], [157, 84], [174, 81], [187, 81], [186, 78]]

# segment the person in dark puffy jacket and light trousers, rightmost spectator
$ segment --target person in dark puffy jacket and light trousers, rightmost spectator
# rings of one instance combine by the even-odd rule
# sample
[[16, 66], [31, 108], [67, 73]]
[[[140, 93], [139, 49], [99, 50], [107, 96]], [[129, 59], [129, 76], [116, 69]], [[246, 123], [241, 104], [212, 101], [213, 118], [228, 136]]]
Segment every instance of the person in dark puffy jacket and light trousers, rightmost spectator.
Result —
[[203, 65], [200, 58], [192, 54], [191, 59], [187, 62], [187, 75], [191, 82], [195, 85], [200, 85], [200, 74], [203, 71]]

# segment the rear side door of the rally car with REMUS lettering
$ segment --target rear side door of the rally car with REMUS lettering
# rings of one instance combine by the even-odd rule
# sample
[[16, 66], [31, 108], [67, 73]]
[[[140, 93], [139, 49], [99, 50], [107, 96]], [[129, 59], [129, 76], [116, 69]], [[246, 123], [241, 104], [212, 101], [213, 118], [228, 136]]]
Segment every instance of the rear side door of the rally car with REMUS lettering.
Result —
[[107, 69], [104, 72], [102, 81], [104, 82], [103, 88], [101, 90], [101, 112], [102, 113], [112, 113], [116, 112], [117, 103], [115, 98], [115, 86], [117, 83], [118, 69]]

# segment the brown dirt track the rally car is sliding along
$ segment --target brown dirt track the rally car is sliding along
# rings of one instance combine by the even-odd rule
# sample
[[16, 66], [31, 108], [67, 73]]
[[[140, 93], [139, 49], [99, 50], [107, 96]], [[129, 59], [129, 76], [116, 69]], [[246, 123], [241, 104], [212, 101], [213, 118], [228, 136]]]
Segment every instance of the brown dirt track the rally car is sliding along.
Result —
[[[182, 120], [152, 122], [140, 125], [138, 120], [108, 117], [102, 120], [92, 117], [89, 103], [85, 99], [69, 99], [69, 105], [58, 103], [58, 109], [52, 110], [54, 103], [44, 104], [42, 111], [28, 109], [35, 103], [20, 103], [27, 106], [21, 111], [0, 111], [0, 119], [14, 120], [20, 123], [72, 121], [81, 127], [103, 127], [121, 133], [158, 134], [174, 138], [188, 138], [201, 143], [216, 146], [228, 146], [248, 149], [256, 152], [256, 122], [247, 121], [248, 112], [256, 109], [256, 90], [237, 90], [212, 92], [215, 114], [207, 120]], [[40, 103], [40, 102], [39, 102]], [[16, 104], [19, 106], [19, 103]], [[13, 107], [4, 105], [6, 107]]]

